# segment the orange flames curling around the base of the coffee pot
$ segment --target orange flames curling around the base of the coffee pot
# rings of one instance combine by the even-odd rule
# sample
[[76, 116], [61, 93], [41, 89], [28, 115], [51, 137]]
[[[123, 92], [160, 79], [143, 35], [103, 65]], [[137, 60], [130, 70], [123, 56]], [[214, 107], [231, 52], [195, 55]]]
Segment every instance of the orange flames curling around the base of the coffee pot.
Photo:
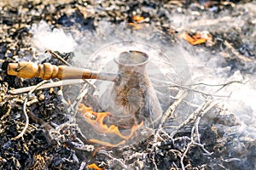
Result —
[[[79, 105], [79, 111], [81, 112], [82, 116], [84, 117], [85, 121], [88, 122], [91, 127], [93, 127], [97, 132], [99, 133], [111, 133], [111, 134], [116, 134], [119, 136], [121, 139], [131, 139], [133, 136], [133, 133], [137, 131], [138, 128], [143, 126], [143, 121], [138, 124], [138, 125], [133, 125], [131, 127], [131, 132], [129, 135], [124, 135], [120, 133], [119, 127], [115, 125], [108, 125], [104, 124], [104, 118], [111, 116], [111, 113], [109, 112], [95, 112], [92, 111], [90, 107], [86, 107], [85, 105], [81, 104]], [[116, 147], [120, 144], [125, 144], [125, 140], [119, 142], [119, 144], [110, 144], [107, 142], [103, 142], [97, 139], [90, 139], [90, 142], [97, 143], [97, 144], [102, 144], [110, 147]]]

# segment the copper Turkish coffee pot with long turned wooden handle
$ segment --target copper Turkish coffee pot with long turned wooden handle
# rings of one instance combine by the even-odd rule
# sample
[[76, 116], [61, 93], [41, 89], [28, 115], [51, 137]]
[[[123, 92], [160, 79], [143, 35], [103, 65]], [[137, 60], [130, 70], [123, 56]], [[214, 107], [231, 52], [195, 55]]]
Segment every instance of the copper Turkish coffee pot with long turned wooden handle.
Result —
[[111, 81], [113, 85], [101, 96], [102, 99], [108, 99], [108, 107], [104, 110], [113, 114], [110, 122], [119, 127], [131, 127], [141, 122], [147, 127], [157, 127], [162, 110], [146, 71], [148, 54], [129, 50], [114, 57], [113, 60], [119, 68], [117, 74], [67, 65], [36, 65], [32, 62], [9, 63], [7, 71], [9, 75], [21, 78]]

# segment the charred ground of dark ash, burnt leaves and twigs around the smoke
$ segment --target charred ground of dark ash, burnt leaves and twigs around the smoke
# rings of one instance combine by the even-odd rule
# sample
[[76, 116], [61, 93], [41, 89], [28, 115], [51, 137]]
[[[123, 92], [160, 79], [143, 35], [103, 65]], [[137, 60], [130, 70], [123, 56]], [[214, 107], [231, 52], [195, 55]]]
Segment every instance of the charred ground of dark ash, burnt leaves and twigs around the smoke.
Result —
[[[125, 32], [141, 37], [146, 34], [142, 30], [150, 28], [150, 32], [157, 32], [157, 39], [162, 38], [163, 43], [188, 41], [190, 43], [185, 48], [194, 45], [195, 54], [206, 53], [201, 52], [203, 49], [207, 54], [220, 56], [219, 64], [230, 67], [227, 75], [236, 71], [253, 75], [256, 59], [255, 2], [38, 0], [2, 1], [0, 8], [1, 169], [86, 169], [93, 163], [97, 167], [92, 169], [256, 168], [255, 138], [252, 135], [227, 135], [227, 131], [235, 129], [232, 127], [239, 126], [239, 122], [236, 122], [236, 116], [225, 115], [225, 111], [214, 108], [215, 105], [211, 107], [214, 100], [209, 98], [205, 98], [206, 105], [192, 106], [193, 109], [201, 108], [195, 119], [184, 118], [183, 124], [178, 126], [175, 115], [171, 115], [163, 121], [162, 127], [152, 130], [148, 139], [136, 144], [102, 148], [101, 144], [91, 143], [84, 137], [71, 116], [74, 111], [70, 105], [78, 101], [69, 95], [79, 94], [82, 87], [74, 85], [72, 91], [69, 87], [45, 88], [29, 96], [26, 105], [29, 125], [20, 139], [14, 139], [26, 124], [23, 111], [26, 94], [10, 94], [9, 90], [36, 85], [42, 80], [20, 79], [6, 72], [9, 62], [27, 59], [38, 62], [42, 51], [32, 44], [32, 26], [44, 20], [52, 30], [62, 29], [73, 33], [74, 37], [76, 31], [93, 32], [91, 44], [96, 44], [94, 41], [102, 41], [103, 44], [104, 33], [117, 34], [119, 26], [129, 30]], [[103, 29], [102, 26], [106, 27]], [[106, 37], [112, 36], [109, 35]], [[123, 36], [119, 35], [115, 36], [122, 39]], [[88, 51], [97, 47], [91, 45]], [[73, 51], [69, 52], [61, 56], [73, 65], [79, 65], [72, 61]], [[40, 62], [61, 65], [53, 58]], [[84, 97], [86, 100], [88, 98]], [[211, 109], [209, 113], [204, 112], [207, 108]], [[199, 120], [202, 121], [197, 124]], [[170, 128], [172, 123], [177, 126], [176, 130]]]

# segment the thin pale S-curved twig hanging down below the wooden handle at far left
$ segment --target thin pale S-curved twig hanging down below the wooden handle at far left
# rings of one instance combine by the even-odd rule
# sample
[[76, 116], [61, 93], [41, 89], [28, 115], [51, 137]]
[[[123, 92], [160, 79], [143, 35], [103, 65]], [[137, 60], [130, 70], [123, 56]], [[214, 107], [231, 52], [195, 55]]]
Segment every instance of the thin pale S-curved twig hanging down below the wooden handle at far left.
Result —
[[44, 80], [42, 82], [39, 82], [34, 88], [32, 88], [32, 90], [29, 91], [29, 93], [26, 95], [26, 99], [24, 101], [24, 104], [23, 104], [23, 113], [26, 117], [26, 124], [25, 124], [25, 127], [23, 128], [23, 130], [21, 131], [21, 133], [16, 136], [15, 138], [12, 138], [12, 140], [16, 140], [16, 139], [20, 139], [20, 137], [23, 138], [23, 135], [24, 133], [26, 132], [26, 128], [28, 127], [28, 124], [29, 124], [29, 120], [28, 120], [28, 116], [27, 116], [27, 113], [26, 113], [26, 103], [27, 103], [27, 99], [29, 97], [29, 95], [31, 95], [38, 87], [42, 86], [44, 83], [46, 83], [48, 81]]

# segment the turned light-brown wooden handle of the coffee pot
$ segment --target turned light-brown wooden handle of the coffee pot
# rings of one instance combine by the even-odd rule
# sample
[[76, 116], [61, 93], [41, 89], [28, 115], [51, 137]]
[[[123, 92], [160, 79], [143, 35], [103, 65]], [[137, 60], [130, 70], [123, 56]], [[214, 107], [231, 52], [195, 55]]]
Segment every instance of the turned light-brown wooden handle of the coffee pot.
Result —
[[32, 62], [9, 63], [7, 72], [9, 75], [20, 78], [40, 77], [44, 80], [59, 79], [96, 79], [98, 73], [88, 69], [81, 69], [66, 65], [51, 65], [44, 63], [36, 65]]

